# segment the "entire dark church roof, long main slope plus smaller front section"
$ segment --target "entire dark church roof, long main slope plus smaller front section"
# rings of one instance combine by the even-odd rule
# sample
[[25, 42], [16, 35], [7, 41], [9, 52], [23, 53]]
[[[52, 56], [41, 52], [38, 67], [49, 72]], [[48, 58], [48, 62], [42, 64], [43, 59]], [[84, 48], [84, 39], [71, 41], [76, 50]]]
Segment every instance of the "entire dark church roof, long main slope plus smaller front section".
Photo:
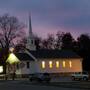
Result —
[[[29, 51], [36, 59], [55, 59], [55, 58], [81, 58], [75, 52], [70, 50], [36, 50]], [[21, 61], [35, 61], [27, 53], [15, 53], [16, 57]]]

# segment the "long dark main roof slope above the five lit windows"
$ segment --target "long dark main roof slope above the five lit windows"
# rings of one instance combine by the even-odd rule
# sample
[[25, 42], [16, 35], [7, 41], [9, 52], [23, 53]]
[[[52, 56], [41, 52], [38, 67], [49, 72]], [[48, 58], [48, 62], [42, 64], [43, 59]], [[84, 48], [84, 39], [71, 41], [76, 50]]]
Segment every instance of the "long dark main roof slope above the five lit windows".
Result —
[[75, 52], [70, 50], [37, 50], [30, 53], [38, 58], [81, 58]]

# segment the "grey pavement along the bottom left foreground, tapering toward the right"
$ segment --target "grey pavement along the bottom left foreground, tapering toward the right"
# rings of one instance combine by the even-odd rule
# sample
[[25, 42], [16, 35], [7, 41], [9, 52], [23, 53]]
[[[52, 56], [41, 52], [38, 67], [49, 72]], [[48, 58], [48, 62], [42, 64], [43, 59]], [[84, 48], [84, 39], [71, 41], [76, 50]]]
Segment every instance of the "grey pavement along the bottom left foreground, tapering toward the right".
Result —
[[[59, 83], [58, 83], [59, 84]], [[55, 86], [55, 84], [49, 83], [30, 83], [27, 80], [8, 80], [0, 82], [1, 90], [86, 90], [81, 88], [71, 88], [65, 86]]]

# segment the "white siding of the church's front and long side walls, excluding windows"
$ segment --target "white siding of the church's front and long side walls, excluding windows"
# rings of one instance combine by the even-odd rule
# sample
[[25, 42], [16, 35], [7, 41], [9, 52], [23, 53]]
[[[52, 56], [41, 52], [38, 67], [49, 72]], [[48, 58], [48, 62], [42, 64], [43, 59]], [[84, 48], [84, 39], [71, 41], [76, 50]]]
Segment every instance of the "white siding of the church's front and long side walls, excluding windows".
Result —
[[[42, 61], [45, 61], [45, 68], [42, 68]], [[53, 67], [49, 68], [49, 61], [53, 62]], [[60, 67], [56, 68], [56, 61], [59, 61]], [[63, 61], [65, 61], [65, 67], [63, 67]], [[70, 68], [69, 61], [72, 62]], [[27, 64], [23, 62], [25, 66], [16, 71], [17, 74], [32, 74], [35, 72], [39, 73], [65, 73], [65, 72], [80, 72], [82, 71], [82, 60], [81, 59], [40, 59], [37, 62], [31, 61], [30, 68], [27, 68]]]

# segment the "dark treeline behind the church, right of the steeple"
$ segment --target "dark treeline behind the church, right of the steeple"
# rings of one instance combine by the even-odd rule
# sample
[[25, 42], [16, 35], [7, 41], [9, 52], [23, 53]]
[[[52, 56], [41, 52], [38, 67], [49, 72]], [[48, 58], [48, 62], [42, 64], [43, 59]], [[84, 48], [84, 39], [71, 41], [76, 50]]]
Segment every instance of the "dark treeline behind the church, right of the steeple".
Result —
[[70, 32], [48, 34], [46, 39], [35, 37], [37, 49], [72, 50], [83, 58], [83, 70], [90, 71], [90, 36], [81, 34], [75, 40]]

